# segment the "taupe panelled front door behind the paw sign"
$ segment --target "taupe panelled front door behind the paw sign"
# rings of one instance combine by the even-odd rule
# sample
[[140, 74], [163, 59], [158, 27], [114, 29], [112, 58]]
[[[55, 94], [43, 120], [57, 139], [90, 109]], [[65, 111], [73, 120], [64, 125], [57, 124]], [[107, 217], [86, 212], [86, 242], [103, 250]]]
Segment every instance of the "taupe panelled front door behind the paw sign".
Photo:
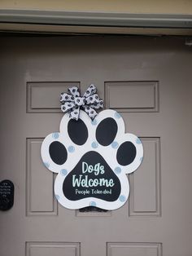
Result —
[[[1, 256], [191, 256], [191, 49], [182, 38], [1, 38], [0, 178], [15, 203], [0, 212]], [[42, 165], [59, 130], [59, 94], [90, 83], [142, 139], [119, 210], [67, 210]], [[116, 99], [117, 95], [117, 99]]]

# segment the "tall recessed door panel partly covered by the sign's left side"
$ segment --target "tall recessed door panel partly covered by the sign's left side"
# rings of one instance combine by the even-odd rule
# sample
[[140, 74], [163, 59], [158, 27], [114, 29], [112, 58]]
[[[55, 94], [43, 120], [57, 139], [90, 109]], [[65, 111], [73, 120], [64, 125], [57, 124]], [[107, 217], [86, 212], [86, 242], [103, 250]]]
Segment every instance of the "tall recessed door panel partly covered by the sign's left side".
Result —
[[[58, 214], [54, 196], [54, 174], [42, 167], [39, 157], [43, 139], [27, 139], [27, 215]], [[40, 171], [41, 170], [41, 171]], [[42, 203], [43, 202], [43, 203]]]

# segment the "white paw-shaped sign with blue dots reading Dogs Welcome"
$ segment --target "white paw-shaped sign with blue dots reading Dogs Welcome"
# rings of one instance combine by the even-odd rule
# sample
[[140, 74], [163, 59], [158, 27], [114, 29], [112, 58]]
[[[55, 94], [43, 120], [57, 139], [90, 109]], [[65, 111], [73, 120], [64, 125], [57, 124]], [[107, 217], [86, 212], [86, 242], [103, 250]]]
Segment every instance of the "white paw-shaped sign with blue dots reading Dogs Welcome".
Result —
[[129, 196], [126, 174], [140, 166], [142, 142], [124, 133], [123, 118], [103, 110], [92, 121], [81, 110], [78, 121], [66, 113], [60, 132], [46, 136], [41, 145], [45, 166], [58, 173], [55, 196], [68, 209], [96, 206], [115, 210]]

